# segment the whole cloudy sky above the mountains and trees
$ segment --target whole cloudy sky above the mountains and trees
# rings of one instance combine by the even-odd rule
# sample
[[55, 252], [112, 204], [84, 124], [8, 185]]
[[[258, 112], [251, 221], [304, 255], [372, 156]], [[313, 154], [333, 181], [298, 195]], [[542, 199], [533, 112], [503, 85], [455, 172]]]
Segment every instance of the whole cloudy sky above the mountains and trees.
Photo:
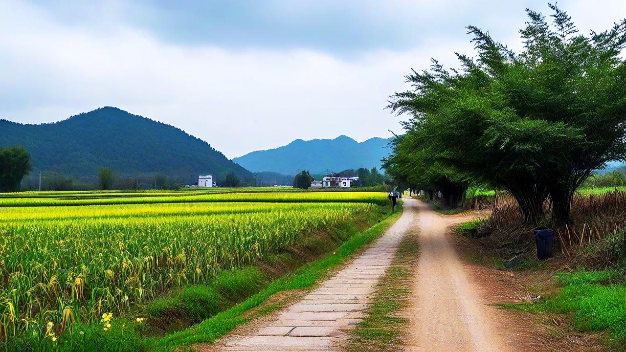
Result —
[[[580, 31], [626, 1], [560, 1]], [[401, 133], [385, 109], [404, 75], [474, 56], [465, 27], [522, 46], [544, 1], [0, 0], [0, 118], [64, 120], [101, 106], [169, 123], [228, 158], [296, 138]]]

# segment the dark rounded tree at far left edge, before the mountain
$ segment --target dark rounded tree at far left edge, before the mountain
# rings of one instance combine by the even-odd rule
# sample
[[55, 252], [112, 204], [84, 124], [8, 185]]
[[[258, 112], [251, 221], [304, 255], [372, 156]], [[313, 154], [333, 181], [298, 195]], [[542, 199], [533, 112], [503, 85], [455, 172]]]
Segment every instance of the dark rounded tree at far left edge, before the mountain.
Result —
[[19, 190], [31, 168], [31, 156], [24, 147], [0, 148], [0, 192]]

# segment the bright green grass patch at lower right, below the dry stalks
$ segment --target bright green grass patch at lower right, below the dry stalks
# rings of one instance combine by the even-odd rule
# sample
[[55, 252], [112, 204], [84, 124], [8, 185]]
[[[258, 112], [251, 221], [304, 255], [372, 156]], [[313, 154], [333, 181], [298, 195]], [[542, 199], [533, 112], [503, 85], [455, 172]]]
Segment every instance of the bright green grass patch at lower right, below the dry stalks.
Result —
[[580, 331], [608, 331], [608, 345], [626, 350], [626, 285], [623, 270], [559, 272], [557, 294], [535, 303], [501, 304], [543, 314], [568, 314]]

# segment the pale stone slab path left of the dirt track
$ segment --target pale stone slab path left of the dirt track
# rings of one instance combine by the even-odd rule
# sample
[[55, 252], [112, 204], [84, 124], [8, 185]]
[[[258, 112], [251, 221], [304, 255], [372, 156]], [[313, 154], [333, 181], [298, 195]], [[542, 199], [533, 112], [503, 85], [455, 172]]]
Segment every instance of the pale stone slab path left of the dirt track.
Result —
[[332, 351], [364, 316], [369, 298], [416, 219], [418, 202], [404, 200], [403, 215], [351, 264], [264, 326], [226, 338], [218, 351]]

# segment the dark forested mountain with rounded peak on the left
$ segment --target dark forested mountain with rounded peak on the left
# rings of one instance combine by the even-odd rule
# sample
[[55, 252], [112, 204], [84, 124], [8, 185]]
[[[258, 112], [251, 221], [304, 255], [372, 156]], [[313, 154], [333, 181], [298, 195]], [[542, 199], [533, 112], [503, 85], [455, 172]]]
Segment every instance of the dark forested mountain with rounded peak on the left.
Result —
[[181, 182], [198, 175], [252, 173], [179, 128], [107, 106], [41, 125], [0, 120], [0, 147], [22, 145], [34, 170], [78, 178], [95, 177], [99, 167], [122, 175], [165, 173]]

